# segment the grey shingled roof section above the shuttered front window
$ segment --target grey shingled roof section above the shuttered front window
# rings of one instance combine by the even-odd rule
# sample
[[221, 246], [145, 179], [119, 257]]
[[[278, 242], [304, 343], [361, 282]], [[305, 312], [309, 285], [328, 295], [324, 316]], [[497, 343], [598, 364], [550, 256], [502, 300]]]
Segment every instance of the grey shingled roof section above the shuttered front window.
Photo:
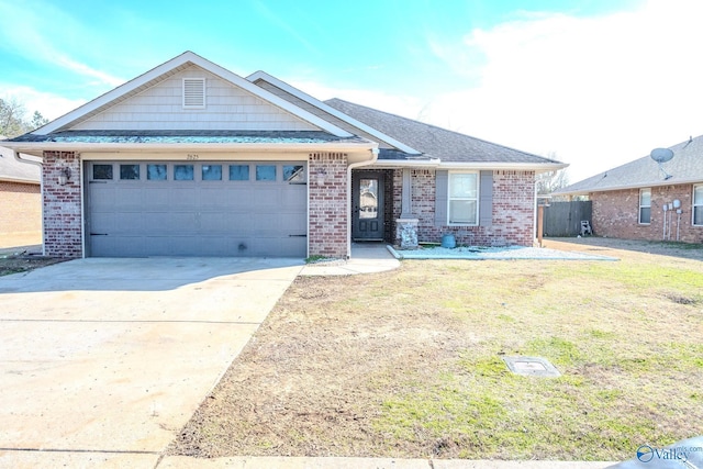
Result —
[[[325, 101], [325, 104], [423, 152], [425, 156], [439, 158], [443, 163], [560, 164], [560, 161], [554, 159], [486, 142], [458, 132], [413, 121], [412, 119], [401, 118], [337, 98]], [[381, 152], [380, 158], [384, 156], [383, 152]], [[398, 159], [398, 155], [391, 153], [386, 157], [389, 159]]]

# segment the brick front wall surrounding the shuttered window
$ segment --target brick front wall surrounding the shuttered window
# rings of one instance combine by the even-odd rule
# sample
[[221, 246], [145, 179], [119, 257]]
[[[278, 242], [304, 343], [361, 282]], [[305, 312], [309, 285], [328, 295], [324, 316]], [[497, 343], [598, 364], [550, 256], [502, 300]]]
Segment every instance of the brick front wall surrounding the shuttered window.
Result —
[[[451, 233], [458, 244], [473, 246], [532, 246], [534, 242], [534, 171], [493, 171], [493, 216], [491, 226], [435, 226], [435, 170], [413, 169], [412, 210], [419, 216], [420, 242], [442, 241]], [[403, 171], [393, 175], [393, 217], [401, 213]]]

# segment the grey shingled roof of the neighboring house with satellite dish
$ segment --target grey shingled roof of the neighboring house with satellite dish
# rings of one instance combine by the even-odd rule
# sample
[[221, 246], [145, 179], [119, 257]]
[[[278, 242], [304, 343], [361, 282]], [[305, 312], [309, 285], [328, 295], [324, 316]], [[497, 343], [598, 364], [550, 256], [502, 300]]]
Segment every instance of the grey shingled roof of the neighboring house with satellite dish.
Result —
[[[651, 157], [643, 156], [567, 186], [555, 194], [580, 196], [609, 190], [703, 182], [703, 136], [690, 138], [669, 149], [673, 152], [673, 158], [661, 164], [661, 169]], [[667, 178], [667, 175], [671, 177]]]

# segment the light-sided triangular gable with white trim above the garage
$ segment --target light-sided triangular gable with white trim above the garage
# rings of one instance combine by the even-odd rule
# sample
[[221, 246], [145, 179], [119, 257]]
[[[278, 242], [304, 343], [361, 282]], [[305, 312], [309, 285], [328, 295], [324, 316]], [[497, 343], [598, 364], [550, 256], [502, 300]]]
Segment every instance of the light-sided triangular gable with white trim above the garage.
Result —
[[[207, 74], [209, 77], [209, 86], [212, 85], [214, 90], [223, 92], [219, 96], [220, 105], [226, 109], [230, 114], [225, 118], [231, 121], [224, 129], [222, 121], [207, 123], [208, 118], [212, 115], [198, 114], [196, 110], [186, 110], [180, 112], [182, 119], [178, 119], [177, 110], [171, 109], [175, 104], [174, 98], [180, 104], [180, 92], [177, 97], [159, 96], [165, 90], [174, 88], [175, 83], [180, 83], [182, 78], [189, 76]], [[178, 85], [180, 86], [180, 85]], [[217, 92], [216, 91], [216, 92]], [[170, 98], [170, 99], [168, 99]], [[245, 104], [246, 103], [246, 104]], [[134, 122], [133, 115], [121, 114], [130, 113], [127, 109], [144, 110], [142, 120]], [[171, 107], [163, 108], [158, 112], [149, 112], [149, 107]], [[242, 107], [242, 108], [237, 108]], [[175, 108], [185, 111], [182, 107]], [[158, 109], [158, 108], [157, 108]], [[243, 124], [246, 116], [252, 111], [260, 111], [261, 120], [257, 124]], [[236, 119], [239, 113], [241, 119]], [[257, 112], [255, 112], [256, 114]], [[193, 116], [196, 116], [193, 119]], [[133, 122], [133, 124], [129, 124]], [[256, 122], [256, 121], [255, 121]], [[265, 124], [268, 122], [268, 124]], [[154, 130], [160, 126], [164, 130], [181, 130], [194, 129], [201, 130], [322, 130], [341, 137], [352, 136], [349, 132], [333, 125], [319, 116], [300, 109], [292, 103], [255, 86], [248, 80], [228, 71], [192, 52], [186, 52], [165, 64], [147, 71], [140, 77], [127, 81], [126, 83], [113, 89], [112, 91], [83, 104], [82, 107], [58, 118], [57, 120], [37, 129], [33, 134], [46, 135], [53, 132], [66, 130], [121, 130], [120, 126], [133, 125], [130, 129], [136, 130]], [[255, 127], [255, 129], [252, 129]]]

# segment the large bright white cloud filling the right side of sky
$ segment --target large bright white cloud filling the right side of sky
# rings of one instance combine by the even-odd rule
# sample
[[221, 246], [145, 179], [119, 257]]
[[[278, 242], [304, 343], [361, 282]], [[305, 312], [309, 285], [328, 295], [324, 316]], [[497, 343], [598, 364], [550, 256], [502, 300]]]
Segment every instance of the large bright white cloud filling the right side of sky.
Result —
[[702, 14], [695, 0], [654, 0], [635, 11], [532, 14], [475, 30], [465, 54], [483, 57], [480, 83], [436, 94], [428, 119], [520, 149], [555, 152], [571, 164], [572, 181], [674, 145], [703, 134]]

